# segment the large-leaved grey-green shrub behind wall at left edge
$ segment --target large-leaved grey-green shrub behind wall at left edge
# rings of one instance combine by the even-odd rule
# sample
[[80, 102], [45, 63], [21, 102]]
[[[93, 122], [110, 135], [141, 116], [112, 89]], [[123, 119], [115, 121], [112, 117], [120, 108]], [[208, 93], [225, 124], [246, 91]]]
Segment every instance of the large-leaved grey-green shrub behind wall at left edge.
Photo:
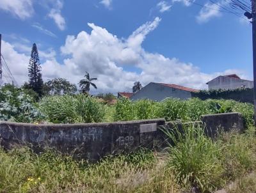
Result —
[[31, 123], [44, 118], [28, 94], [14, 86], [0, 89], [0, 120]]

